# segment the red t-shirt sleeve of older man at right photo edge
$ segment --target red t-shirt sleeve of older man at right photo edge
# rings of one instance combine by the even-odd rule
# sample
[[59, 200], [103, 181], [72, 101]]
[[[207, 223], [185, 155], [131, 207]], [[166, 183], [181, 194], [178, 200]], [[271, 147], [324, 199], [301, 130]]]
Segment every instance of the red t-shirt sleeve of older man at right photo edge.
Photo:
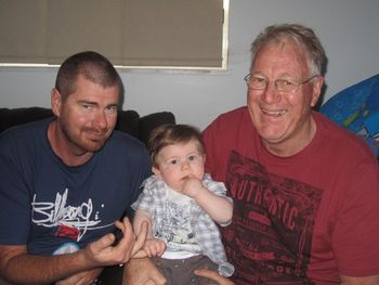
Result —
[[356, 174], [347, 179], [350, 179], [349, 187], [331, 237], [336, 261], [344, 275], [378, 274], [378, 166], [373, 167], [373, 163], [362, 164]]

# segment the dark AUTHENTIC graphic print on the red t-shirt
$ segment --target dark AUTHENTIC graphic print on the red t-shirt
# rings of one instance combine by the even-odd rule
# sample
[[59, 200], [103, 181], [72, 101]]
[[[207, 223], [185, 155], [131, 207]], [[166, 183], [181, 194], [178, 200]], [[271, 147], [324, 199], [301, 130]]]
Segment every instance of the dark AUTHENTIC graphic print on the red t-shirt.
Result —
[[322, 191], [270, 173], [236, 152], [226, 185], [234, 215], [223, 236], [237, 284], [313, 284], [306, 270]]

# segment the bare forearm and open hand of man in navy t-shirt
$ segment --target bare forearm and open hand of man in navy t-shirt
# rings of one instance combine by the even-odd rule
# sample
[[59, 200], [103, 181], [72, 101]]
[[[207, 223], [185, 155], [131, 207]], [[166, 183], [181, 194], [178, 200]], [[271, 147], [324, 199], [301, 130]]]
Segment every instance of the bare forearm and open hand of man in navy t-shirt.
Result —
[[84, 249], [67, 255], [35, 256], [27, 252], [25, 245], [1, 245], [0, 277], [17, 284], [52, 283], [91, 269], [125, 263], [143, 246], [147, 224], [143, 224], [136, 241], [128, 219], [116, 225], [123, 232], [117, 246], [113, 246], [114, 234], [107, 234]]

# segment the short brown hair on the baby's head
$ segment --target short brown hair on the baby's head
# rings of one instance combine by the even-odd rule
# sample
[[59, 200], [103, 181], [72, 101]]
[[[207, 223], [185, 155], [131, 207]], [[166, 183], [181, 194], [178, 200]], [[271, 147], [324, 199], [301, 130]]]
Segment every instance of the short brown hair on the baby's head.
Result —
[[198, 142], [198, 151], [204, 154], [204, 141], [200, 131], [188, 125], [165, 124], [155, 128], [148, 140], [153, 166], [157, 167], [157, 156], [161, 148], [178, 143], [187, 143], [192, 140]]

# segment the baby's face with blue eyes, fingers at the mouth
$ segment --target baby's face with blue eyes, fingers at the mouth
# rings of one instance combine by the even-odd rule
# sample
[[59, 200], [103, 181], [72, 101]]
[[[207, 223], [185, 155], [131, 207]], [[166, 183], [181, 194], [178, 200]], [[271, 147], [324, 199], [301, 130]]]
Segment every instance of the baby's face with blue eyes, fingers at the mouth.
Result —
[[157, 158], [158, 168], [153, 168], [154, 173], [173, 190], [182, 191], [187, 178], [202, 180], [205, 156], [195, 140], [165, 146]]

